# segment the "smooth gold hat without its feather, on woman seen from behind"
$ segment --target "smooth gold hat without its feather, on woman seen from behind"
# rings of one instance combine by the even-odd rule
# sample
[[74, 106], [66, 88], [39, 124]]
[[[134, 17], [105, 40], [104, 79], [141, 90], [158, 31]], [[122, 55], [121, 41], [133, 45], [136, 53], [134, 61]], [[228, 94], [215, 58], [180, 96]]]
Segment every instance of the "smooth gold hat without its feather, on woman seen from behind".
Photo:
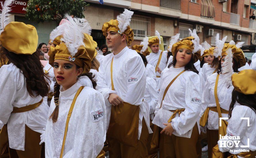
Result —
[[37, 30], [23, 22], [10, 22], [1, 33], [0, 41], [10, 52], [31, 55], [37, 50]]

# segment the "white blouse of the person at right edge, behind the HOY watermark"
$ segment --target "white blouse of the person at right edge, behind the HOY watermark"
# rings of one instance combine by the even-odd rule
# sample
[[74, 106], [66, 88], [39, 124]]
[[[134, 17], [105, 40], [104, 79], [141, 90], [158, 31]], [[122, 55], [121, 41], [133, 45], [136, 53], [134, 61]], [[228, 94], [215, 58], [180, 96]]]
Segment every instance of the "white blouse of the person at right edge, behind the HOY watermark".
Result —
[[[242, 117], [245, 117], [248, 119], [242, 120], [241, 119]], [[249, 122], [249, 124], [248, 124], [248, 122]], [[219, 150], [221, 152], [228, 151], [232, 154], [238, 154], [238, 153], [240, 153], [240, 151], [238, 151], [238, 150], [243, 150], [243, 149], [255, 151], [256, 150], [255, 131], [256, 131], [256, 113], [255, 113], [255, 111], [253, 111], [253, 109], [251, 109], [250, 107], [236, 103], [234, 105], [234, 109], [232, 110], [232, 116], [228, 122], [226, 136], [236, 136], [236, 138], [237, 138], [237, 136], [239, 136], [240, 139], [231, 139], [231, 140], [236, 140], [236, 141], [241, 141], [241, 142], [238, 144], [238, 147], [236, 147], [236, 145], [234, 145], [232, 147], [228, 147], [228, 146], [230, 146], [229, 144], [227, 146], [227, 143], [228, 143], [227, 141], [230, 140], [230, 139], [228, 139], [226, 141], [226, 147], [224, 147], [224, 145], [222, 145], [222, 147], [220, 147], [220, 142], [222, 140], [219, 140], [218, 141]], [[247, 147], [241, 147], [241, 146], [247, 146]], [[232, 151], [230, 151], [230, 150], [232, 150]], [[238, 157], [240, 157], [240, 156], [238, 156]]]

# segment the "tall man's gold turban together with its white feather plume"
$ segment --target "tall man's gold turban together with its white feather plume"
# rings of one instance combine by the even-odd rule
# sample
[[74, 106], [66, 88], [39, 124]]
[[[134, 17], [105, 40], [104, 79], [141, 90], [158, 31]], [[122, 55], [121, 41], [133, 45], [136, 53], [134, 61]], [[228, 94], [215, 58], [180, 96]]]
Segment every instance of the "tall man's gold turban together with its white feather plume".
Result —
[[133, 30], [130, 28], [130, 22], [131, 22], [131, 16], [133, 15], [133, 11], [129, 11], [125, 9], [125, 11], [122, 14], [119, 14], [116, 17], [116, 20], [110, 20], [109, 22], [106, 22], [102, 26], [102, 32], [105, 37], [106, 33], [108, 31], [117, 32], [119, 34], [125, 34], [126, 35], [126, 41], [127, 45], [131, 45], [131, 42], [133, 41]]

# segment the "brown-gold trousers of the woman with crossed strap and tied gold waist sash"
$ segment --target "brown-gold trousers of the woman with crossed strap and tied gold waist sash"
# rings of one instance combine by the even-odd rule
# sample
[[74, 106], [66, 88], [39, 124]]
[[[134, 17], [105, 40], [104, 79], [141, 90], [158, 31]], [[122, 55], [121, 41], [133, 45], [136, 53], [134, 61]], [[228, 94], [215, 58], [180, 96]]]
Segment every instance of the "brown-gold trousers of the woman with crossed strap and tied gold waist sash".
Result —
[[202, 156], [202, 147], [197, 124], [193, 127], [190, 138], [167, 136], [160, 134], [160, 158], [199, 158]]

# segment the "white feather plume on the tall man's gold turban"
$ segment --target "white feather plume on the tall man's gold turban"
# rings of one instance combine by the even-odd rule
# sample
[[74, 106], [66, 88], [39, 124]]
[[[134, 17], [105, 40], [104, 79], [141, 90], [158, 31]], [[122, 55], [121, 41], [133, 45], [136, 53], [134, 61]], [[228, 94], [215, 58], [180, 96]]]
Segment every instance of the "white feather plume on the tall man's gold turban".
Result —
[[119, 14], [116, 17], [116, 20], [118, 21], [118, 28], [120, 30], [120, 33], [125, 32], [125, 30], [127, 29], [127, 26], [130, 25], [132, 15], [133, 15], [133, 11], [129, 11], [125, 9], [125, 11], [122, 14]]

